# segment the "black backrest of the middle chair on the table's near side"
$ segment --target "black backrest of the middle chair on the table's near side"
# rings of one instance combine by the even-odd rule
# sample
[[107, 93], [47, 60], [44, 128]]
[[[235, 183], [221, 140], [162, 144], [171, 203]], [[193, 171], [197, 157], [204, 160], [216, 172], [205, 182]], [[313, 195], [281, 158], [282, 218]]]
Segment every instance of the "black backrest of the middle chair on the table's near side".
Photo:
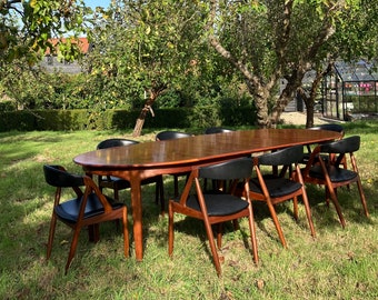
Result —
[[255, 158], [258, 164], [263, 166], [289, 166], [297, 163], [304, 158], [304, 147], [294, 146], [271, 153]]

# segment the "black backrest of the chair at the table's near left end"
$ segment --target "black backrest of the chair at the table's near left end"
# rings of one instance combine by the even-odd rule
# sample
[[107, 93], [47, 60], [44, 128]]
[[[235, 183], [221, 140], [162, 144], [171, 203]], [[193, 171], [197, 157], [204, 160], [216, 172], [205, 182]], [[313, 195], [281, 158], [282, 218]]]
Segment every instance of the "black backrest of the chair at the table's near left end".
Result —
[[56, 188], [84, 186], [84, 179], [82, 176], [71, 174], [61, 166], [44, 164], [43, 172], [46, 182]]

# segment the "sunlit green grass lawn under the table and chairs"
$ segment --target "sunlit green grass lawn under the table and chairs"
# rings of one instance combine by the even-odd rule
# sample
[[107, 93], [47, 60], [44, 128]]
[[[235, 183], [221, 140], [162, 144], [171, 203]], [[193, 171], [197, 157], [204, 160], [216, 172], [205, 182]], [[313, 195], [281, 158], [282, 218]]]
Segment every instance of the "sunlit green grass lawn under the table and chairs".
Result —
[[[324, 189], [308, 187], [317, 238], [310, 237], [304, 207], [295, 222], [291, 203], [285, 203], [277, 208], [288, 242], [288, 249], [282, 249], [268, 210], [256, 203], [260, 263], [252, 263], [245, 247], [250, 241], [248, 223], [242, 220], [241, 231], [228, 227], [223, 236], [221, 278], [197, 220], [176, 218], [173, 258], [168, 257], [168, 219], [159, 217], [153, 186], [142, 188], [143, 260], [135, 260], [131, 224], [131, 258], [126, 259], [121, 233], [113, 223], [106, 223], [97, 244], [88, 242], [87, 232], [82, 232], [64, 276], [71, 232], [61, 223], [51, 259], [46, 261], [53, 189], [44, 182], [42, 164], [61, 163], [81, 172], [72, 162], [74, 156], [93, 150], [109, 137], [131, 138], [131, 131], [0, 133], [0, 298], [377, 299], [378, 123], [346, 127], [347, 136], [361, 136], [357, 160], [370, 218], [362, 214], [357, 188], [342, 189], [339, 199], [347, 221], [342, 229], [334, 207], [322, 201]], [[153, 140], [155, 133], [140, 140]], [[170, 177], [166, 184], [168, 198], [173, 189]], [[122, 191], [121, 197], [129, 204], [129, 191]]]

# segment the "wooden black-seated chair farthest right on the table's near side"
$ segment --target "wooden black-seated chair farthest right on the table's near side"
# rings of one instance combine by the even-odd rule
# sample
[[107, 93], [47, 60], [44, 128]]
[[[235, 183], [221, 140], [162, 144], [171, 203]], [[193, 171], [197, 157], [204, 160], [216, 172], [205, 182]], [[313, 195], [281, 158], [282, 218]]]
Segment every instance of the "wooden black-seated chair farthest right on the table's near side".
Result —
[[[358, 151], [359, 148], [359, 136], [351, 136], [344, 138], [342, 140], [319, 144], [311, 152], [306, 168], [301, 170], [305, 182], [326, 187], [326, 201], [327, 203], [329, 203], [329, 200], [332, 201], [342, 227], [346, 226], [346, 222], [337, 196], [337, 189], [340, 187], [349, 187], [350, 183], [356, 182], [365, 216], [369, 216], [355, 157], [355, 152]], [[321, 154], [334, 154], [335, 159], [318, 159]], [[352, 167], [351, 170], [344, 168], [342, 161], [346, 159], [350, 162], [350, 166]]]

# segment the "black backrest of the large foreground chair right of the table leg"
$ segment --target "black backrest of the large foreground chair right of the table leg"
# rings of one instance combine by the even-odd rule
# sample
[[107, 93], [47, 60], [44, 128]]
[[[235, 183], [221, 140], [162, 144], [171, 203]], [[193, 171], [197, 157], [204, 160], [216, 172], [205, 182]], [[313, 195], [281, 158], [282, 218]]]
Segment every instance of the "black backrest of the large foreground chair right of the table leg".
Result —
[[251, 158], [240, 158], [212, 166], [201, 167], [199, 169], [199, 177], [215, 180], [232, 180], [249, 178], [251, 172]]

